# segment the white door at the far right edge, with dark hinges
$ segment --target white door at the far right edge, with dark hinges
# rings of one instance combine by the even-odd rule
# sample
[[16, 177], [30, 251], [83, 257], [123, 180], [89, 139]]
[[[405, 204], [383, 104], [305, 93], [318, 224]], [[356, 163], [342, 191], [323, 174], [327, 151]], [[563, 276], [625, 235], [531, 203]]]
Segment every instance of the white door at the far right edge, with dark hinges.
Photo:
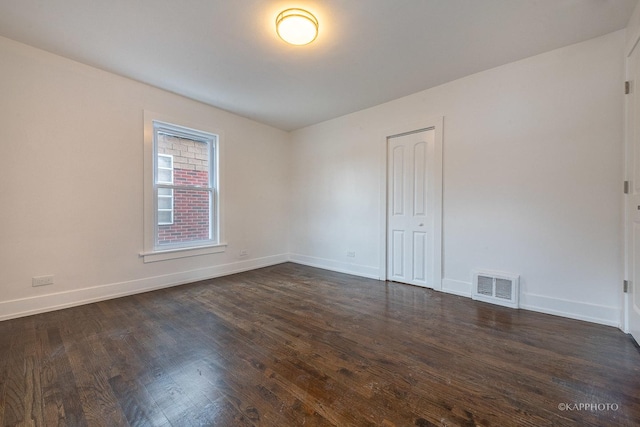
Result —
[[627, 61], [631, 93], [627, 95], [627, 179], [626, 275], [629, 293], [625, 297], [626, 330], [640, 343], [640, 47]]

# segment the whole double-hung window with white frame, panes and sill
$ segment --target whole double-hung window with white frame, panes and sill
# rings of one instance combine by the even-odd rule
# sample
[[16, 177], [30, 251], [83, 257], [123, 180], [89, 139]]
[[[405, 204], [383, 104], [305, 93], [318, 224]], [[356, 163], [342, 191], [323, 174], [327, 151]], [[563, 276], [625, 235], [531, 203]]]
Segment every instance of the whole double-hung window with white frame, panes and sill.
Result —
[[221, 252], [219, 136], [145, 112], [145, 262]]

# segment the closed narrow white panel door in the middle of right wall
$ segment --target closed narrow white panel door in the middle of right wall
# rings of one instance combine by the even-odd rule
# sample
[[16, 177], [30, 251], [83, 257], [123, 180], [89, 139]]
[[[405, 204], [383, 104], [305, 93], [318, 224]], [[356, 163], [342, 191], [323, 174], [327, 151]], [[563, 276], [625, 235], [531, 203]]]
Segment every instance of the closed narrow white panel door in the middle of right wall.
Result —
[[433, 287], [435, 131], [389, 137], [387, 279]]

